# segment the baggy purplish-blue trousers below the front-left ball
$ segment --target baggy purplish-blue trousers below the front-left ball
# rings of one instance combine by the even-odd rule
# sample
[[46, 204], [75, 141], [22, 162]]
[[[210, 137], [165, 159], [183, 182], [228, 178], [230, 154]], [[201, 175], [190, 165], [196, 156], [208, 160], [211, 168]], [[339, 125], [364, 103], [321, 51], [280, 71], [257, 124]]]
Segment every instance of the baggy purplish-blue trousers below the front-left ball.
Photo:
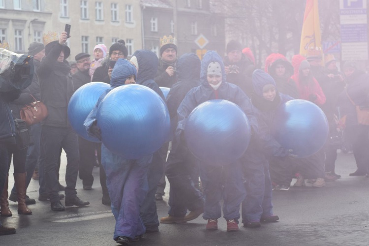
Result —
[[127, 160], [101, 146], [101, 164], [105, 169], [112, 213], [116, 220], [114, 240], [121, 236], [133, 239], [145, 233], [140, 207], [148, 190], [147, 172], [152, 156]]

